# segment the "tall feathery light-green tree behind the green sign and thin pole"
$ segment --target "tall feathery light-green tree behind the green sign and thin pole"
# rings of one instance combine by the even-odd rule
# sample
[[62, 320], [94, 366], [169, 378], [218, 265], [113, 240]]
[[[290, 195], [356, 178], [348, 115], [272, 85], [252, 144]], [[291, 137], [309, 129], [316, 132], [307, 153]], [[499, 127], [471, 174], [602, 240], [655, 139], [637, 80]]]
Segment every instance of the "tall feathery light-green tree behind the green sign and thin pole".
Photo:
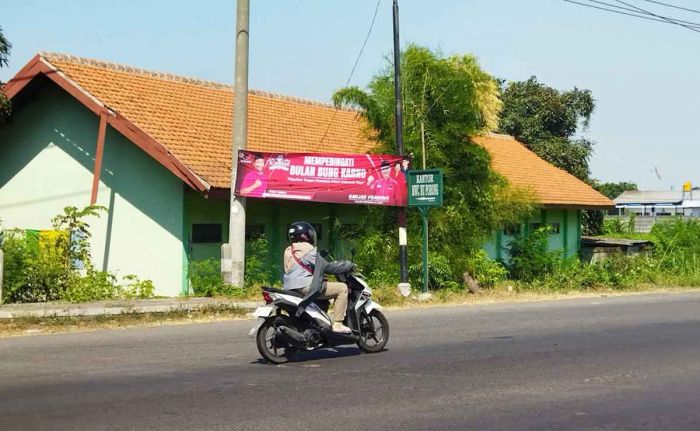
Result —
[[[532, 209], [531, 196], [509, 188], [491, 170], [487, 151], [469, 142], [470, 135], [498, 125], [501, 107], [496, 80], [481, 70], [473, 56], [446, 57], [409, 45], [402, 55], [401, 70], [407, 153], [419, 155], [416, 162], [424, 159], [427, 166], [442, 168], [445, 174], [445, 206], [431, 212], [431, 250], [450, 260], [458, 279], [469, 251], [479, 248], [494, 230], [519, 221]], [[393, 81], [389, 64], [366, 91], [350, 87], [333, 95], [338, 106], [360, 108], [378, 150], [388, 153], [395, 151]], [[382, 238], [392, 238], [388, 235], [395, 226], [392, 214], [384, 208], [368, 211], [371, 214], [365, 220], [379, 220], [375, 228], [380, 235], [367, 248], [386, 249], [389, 244]], [[418, 217], [410, 213], [409, 232], [417, 239]], [[377, 258], [368, 262], [376, 266]]]

